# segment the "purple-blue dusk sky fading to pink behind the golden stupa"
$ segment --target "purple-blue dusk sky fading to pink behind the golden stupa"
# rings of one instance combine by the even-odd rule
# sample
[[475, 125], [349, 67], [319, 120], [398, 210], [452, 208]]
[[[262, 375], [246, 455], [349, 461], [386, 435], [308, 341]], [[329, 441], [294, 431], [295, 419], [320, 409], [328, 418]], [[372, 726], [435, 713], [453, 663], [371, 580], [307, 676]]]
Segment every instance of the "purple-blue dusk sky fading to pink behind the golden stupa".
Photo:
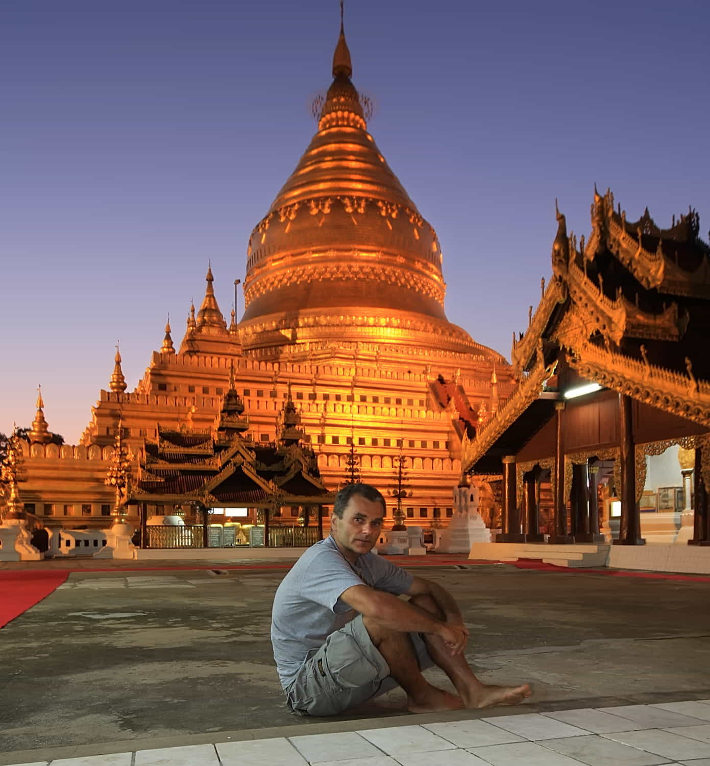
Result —
[[[509, 356], [550, 274], [555, 198], [710, 228], [706, 0], [348, 0], [369, 129], [443, 248], [452, 322]], [[133, 390], [178, 345], [211, 259], [228, 315], [247, 240], [316, 130], [336, 0], [5, 0], [0, 430], [76, 442], [114, 344]], [[244, 309], [240, 296], [240, 310]]]

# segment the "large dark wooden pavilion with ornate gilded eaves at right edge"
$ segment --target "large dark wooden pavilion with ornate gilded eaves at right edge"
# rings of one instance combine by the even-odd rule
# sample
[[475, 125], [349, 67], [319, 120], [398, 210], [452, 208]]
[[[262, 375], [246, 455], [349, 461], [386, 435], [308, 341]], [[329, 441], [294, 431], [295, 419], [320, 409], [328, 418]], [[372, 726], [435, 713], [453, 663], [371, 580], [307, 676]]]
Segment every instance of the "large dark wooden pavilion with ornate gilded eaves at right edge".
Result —
[[646, 209], [632, 223], [595, 189], [588, 241], [557, 219], [553, 277], [513, 336], [518, 385], [464, 439], [462, 468], [503, 476], [497, 542], [541, 542], [542, 480], [554, 498], [549, 542], [600, 542], [601, 471], [620, 499], [615, 542], [640, 545], [646, 455], [679, 444], [695, 451], [689, 544], [710, 545], [710, 248], [699, 215], [661, 229]]

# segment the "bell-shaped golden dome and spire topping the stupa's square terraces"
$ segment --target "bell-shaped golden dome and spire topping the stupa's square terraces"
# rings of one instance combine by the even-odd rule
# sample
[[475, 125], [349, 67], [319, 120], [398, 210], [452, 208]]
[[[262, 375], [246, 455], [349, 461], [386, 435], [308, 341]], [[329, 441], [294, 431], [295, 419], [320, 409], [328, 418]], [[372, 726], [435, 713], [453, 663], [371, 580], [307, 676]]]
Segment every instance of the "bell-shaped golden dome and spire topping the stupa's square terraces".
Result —
[[338, 338], [488, 352], [447, 321], [437, 234], [368, 133], [351, 75], [341, 25], [318, 132], [250, 237], [244, 348]]

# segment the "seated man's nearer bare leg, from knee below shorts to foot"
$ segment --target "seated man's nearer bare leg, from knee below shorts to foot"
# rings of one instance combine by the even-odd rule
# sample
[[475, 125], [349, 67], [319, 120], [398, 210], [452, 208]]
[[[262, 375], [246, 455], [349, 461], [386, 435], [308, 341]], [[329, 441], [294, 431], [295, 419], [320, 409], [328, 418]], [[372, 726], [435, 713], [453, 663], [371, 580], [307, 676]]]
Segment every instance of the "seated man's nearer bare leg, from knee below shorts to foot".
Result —
[[409, 633], [382, 627], [376, 620], [362, 618], [372, 643], [390, 666], [390, 675], [407, 692], [407, 709], [413, 713], [459, 710], [463, 699], [432, 686], [422, 676]]

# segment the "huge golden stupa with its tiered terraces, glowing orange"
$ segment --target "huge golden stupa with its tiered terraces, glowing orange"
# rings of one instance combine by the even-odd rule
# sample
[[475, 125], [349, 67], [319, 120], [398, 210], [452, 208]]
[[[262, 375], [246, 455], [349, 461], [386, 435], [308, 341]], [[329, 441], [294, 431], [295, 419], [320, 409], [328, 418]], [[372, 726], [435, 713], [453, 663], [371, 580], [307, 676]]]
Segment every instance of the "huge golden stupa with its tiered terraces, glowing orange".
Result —
[[[237, 322], [233, 311], [227, 326], [210, 266], [179, 348], [168, 323], [133, 391], [116, 349], [108, 390], [73, 454], [105, 462], [119, 423], [136, 454], [159, 438], [159, 425], [207, 431], [231, 389], [244, 402], [250, 437], [275, 443], [291, 397], [326, 486], [344, 483], [356, 463], [391, 513], [404, 459], [402, 509], [426, 526], [453, 515], [463, 437], [496, 412], [512, 375], [501, 355], [447, 321], [437, 234], [368, 133], [368, 100], [352, 84], [342, 25], [332, 74], [316, 135], [251, 234], [244, 316]], [[51, 479], [47, 469], [33, 500], [93, 515], [111, 502], [97, 499], [106, 466], [96, 470], [91, 489], [66, 470]], [[299, 509], [291, 513], [295, 523]]]

